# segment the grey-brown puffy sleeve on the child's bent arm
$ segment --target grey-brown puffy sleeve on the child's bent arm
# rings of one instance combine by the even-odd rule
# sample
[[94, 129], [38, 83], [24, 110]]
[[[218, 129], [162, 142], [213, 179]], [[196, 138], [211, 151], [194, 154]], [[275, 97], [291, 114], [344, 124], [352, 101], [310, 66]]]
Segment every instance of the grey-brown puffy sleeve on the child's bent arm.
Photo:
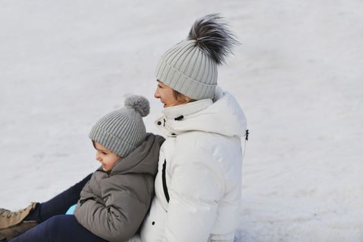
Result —
[[[140, 200], [139, 191], [133, 189], [137, 183], [145, 187], [145, 179], [136, 176], [102, 180], [104, 205], [94, 199], [79, 205], [75, 212], [78, 223], [106, 241], [127, 241], [138, 230], [149, 207], [148, 201]], [[149, 193], [143, 196], [150, 200], [150, 191], [141, 188], [140, 192]]]

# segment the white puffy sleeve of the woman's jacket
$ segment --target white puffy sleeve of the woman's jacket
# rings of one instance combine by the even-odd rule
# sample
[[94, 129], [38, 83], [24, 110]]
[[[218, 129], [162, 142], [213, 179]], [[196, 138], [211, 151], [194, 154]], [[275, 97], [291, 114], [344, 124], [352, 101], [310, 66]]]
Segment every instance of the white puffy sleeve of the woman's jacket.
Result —
[[189, 149], [176, 152], [169, 171], [165, 241], [208, 241], [223, 196], [221, 166], [209, 152]]

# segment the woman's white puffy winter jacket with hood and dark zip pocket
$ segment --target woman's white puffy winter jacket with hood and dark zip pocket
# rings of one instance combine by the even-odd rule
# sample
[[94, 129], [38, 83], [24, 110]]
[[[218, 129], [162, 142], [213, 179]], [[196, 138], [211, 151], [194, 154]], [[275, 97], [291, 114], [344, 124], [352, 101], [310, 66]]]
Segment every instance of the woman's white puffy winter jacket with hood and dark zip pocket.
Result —
[[142, 242], [234, 240], [246, 120], [235, 98], [217, 90], [215, 102], [171, 106], [156, 120], [167, 140], [160, 149], [156, 194], [142, 225]]

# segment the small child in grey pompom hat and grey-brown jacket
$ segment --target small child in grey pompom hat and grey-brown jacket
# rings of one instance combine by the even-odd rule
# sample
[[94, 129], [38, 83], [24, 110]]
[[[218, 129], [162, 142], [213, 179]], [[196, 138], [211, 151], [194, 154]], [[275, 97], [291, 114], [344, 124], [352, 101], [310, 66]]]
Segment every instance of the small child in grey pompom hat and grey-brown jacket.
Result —
[[[55, 213], [11, 241], [57, 241], [59, 234], [66, 232], [68, 236], [74, 234], [74, 241], [112, 242], [126, 241], [135, 234], [149, 210], [164, 141], [161, 136], [146, 133], [142, 117], [148, 113], [147, 99], [133, 95], [122, 109], [98, 120], [89, 138], [101, 167], [84, 185], [74, 215]], [[54, 231], [54, 223], [59, 224], [58, 231]], [[6, 236], [6, 229], [0, 227], [0, 235]]]

